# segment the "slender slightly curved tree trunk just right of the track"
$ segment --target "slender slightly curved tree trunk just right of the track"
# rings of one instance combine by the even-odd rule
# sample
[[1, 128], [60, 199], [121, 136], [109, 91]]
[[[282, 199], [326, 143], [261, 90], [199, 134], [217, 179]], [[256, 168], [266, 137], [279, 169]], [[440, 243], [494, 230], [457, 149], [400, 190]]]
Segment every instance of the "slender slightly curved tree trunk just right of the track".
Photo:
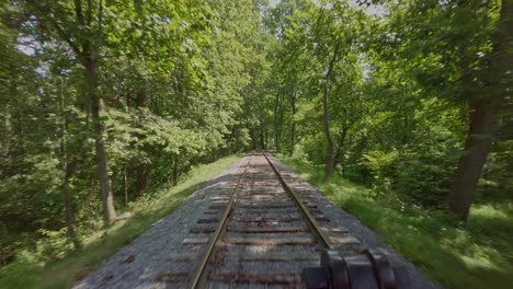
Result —
[[331, 174], [333, 173], [333, 165], [334, 165], [334, 146], [333, 146], [333, 138], [331, 137], [330, 132], [330, 113], [329, 113], [329, 97], [330, 97], [330, 90], [331, 90], [331, 82], [332, 82], [332, 74], [333, 74], [333, 67], [337, 61], [337, 57], [339, 54], [339, 44], [335, 44], [333, 56], [329, 62], [328, 72], [326, 73], [326, 81], [324, 81], [324, 90], [322, 94], [322, 123], [323, 123], [323, 131], [326, 142], [328, 144], [327, 153], [326, 153], [326, 172], [324, 172], [324, 181], [330, 178]]

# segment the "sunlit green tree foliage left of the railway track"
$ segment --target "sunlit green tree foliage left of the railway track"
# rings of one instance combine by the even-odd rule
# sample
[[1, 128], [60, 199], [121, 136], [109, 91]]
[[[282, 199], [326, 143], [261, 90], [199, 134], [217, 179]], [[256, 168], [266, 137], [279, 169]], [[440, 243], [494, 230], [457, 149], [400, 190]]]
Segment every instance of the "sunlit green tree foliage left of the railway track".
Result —
[[62, 258], [101, 230], [98, 127], [117, 210], [248, 147], [260, 14], [251, 1], [221, 2], [2, 2], [2, 266], [14, 252]]

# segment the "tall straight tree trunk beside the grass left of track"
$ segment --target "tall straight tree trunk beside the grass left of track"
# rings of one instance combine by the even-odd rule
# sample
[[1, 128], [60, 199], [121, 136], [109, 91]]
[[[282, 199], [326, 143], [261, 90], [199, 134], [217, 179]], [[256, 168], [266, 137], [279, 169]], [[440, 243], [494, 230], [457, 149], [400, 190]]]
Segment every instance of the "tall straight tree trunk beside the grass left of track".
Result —
[[102, 193], [103, 220], [109, 226], [116, 218], [114, 200], [111, 188], [111, 176], [109, 175], [107, 154], [103, 139], [103, 124], [100, 115], [103, 111], [103, 101], [96, 95], [98, 62], [92, 59], [86, 61], [86, 74], [88, 80], [88, 96], [91, 101], [91, 116], [95, 134], [94, 148], [96, 152], [98, 177], [100, 180], [100, 189]]

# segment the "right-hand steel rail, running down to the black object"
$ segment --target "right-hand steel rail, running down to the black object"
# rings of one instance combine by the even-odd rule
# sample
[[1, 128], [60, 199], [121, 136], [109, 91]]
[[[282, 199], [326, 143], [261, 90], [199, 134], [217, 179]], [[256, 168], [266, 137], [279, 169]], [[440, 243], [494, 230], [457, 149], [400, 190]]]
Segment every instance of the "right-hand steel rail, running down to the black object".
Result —
[[283, 180], [282, 177], [282, 174], [280, 174], [280, 172], [276, 170], [276, 167], [274, 166], [273, 162], [271, 162], [271, 160], [267, 158], [267, 155], [265, 154], [265, 152], [263, 152], [263, 155], [265, 157], [265, 160], [267, 160], [269, 164], [271, 165], [271, 167], [273, 169], [274, 173], [276, 174], [276, 176], [278, 177], [280, 180], [280, 183], [282, 184], [282, 187], [285, 189], [285, 192], [288, 193], [288, 195], [292, 197], [292, 199], [294, 200], [294, 203], [296, 203], [296, 205], [299, 207], [299, 211], [303, 213], [303, 216], [305, 217], [306, 219], [306, 222], [308, 224], [308, 228], [311, 230], [311, 232], [316, 235], [317, 240], [319, 241], [319, 243], [321, 244], [322, 248], [326, 248], [326, 250], [331, 250], [333, 248], [333, 244], [331, 243], [331, 241], [329, 240], [329, 238], [321, 231], [321, 229], [319, 228], [319, 226], [317, 224], [317, 221], [316, 219], [314, 218], [314, 216], [311, 216], [310, 211], [308, 210], [308, 208], [305, 206], [305, 204], [303, 204], [303, 201], [299, 200], [299, 197], [296, 195], [296, 193], [294, 193], [294, 190], [290, 189], [290, 187], [287, 185], [287, 183], [285, 182], [285, 180]]

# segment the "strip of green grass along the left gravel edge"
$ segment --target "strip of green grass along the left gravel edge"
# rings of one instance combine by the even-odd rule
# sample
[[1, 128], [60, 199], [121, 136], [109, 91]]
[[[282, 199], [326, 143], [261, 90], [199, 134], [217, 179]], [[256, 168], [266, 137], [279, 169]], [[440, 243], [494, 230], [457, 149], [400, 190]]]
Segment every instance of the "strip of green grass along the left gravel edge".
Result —
[[145, 232], [153, 222], [175, 210], [205, 181], [220, 174], [238, 157], [193, 169], [175, 187], [161, 187], [152, 199], [138, 203], [135, 216], [88, 238], [84, 250], [45, 266], [14, 262], [0, 270], [0, 288], [70, 288], [105, 259]]

